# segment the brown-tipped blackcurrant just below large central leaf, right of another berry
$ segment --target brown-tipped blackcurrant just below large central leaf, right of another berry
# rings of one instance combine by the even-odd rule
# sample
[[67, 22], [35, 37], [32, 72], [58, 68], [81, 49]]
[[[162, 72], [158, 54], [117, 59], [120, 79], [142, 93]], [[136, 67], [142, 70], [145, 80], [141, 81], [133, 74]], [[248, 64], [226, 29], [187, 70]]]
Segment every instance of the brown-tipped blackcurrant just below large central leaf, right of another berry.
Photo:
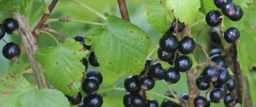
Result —
[[138, 93], [140, 91], [139, 79], [136, 75], [127, 77], [124, 80], [124, 87], [127, 92]]

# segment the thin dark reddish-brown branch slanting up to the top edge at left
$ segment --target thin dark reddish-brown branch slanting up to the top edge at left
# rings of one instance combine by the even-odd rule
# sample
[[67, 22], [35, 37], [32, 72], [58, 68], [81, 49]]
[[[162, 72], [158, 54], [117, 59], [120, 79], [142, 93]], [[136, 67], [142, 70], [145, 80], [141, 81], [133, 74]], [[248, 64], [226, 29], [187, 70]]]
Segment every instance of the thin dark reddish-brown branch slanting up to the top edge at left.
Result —
[[[50, 4], [50, 6], [48, 7], [49, 13], [51, 14], [51, 12], [53, 11], [54, 7], [56, 6], [57, 2], [59, 0], [53, 0]], [[47, 20], [47, 18], [50, 16], [50, 14], [44, 14], [43, 17], [41, 18], [41, 20], [38, 22], [38, 24], [36, 25], [36, 27], [33, 30], [33, 35], [37, 38], [40, 34], [36, 33], [36, 29], [42, 28], [44, 25], [44, 22]]]

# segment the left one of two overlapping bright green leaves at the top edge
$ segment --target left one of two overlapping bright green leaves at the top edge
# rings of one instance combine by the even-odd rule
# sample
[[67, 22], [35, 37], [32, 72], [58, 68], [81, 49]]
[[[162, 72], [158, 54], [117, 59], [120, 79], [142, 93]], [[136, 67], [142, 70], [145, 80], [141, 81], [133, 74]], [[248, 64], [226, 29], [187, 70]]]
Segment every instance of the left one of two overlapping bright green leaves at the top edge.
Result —
[[148, 23], [158, 32], [165, 33], [174, 20], [172, 11], [165, 7], [165, 0], [148, 0]]

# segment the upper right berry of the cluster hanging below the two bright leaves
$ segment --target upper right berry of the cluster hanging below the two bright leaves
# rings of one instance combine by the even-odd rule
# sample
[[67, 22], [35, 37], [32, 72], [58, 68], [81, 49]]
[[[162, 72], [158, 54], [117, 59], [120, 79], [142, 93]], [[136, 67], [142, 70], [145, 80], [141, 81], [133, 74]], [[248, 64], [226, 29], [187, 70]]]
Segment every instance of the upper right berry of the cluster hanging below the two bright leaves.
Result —
[[193, 52], [196, 48], [196, 43], [193, 38], [190, 38], [188, 36], [185, 36], [180, 42], [179, 42], [179, 52], [182, 54], [189, 54]]

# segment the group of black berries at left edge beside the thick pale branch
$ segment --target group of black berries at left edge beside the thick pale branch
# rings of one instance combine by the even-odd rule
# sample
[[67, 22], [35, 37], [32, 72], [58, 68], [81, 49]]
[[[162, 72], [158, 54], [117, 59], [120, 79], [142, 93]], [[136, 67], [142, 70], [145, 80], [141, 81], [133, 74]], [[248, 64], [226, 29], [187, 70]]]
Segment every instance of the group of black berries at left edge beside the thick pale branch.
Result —
[[[3, 39], [5, 33], [13, 34], [17, 33], [19, 23], [13, 18], [6, 18], [2, 24], [0, 24], [0, 39]], [[20, 56], [20, 47], [18, 44], [9, 42], [3, 47], [3, 55], [6, 59], [16, 61]]]

